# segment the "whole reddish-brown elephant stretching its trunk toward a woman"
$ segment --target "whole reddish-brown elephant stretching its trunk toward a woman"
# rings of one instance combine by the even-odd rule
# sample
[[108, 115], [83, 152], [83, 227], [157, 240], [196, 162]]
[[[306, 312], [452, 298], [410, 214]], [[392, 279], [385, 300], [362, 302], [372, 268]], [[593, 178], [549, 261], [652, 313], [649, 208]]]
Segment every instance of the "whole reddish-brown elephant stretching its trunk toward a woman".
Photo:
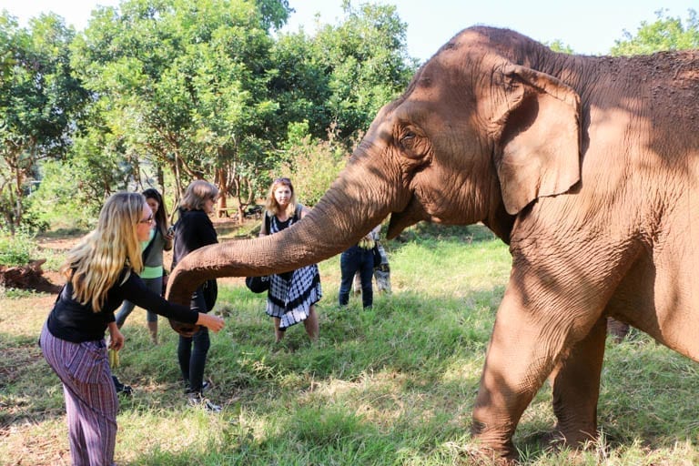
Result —
[[698, 110], [698, 51], [567, 55], [471, 26], [380, 109], [308, 216], [189, 254], [168, 298], [330, 258], [389, 217], [389, 238], [419, 221], [482, 222], [512, 270], [472, 438], [516, 458], [512, 435], [549, 380], [553, 433], [578, 446], [597, 435], [608, 318], [699, 359]]

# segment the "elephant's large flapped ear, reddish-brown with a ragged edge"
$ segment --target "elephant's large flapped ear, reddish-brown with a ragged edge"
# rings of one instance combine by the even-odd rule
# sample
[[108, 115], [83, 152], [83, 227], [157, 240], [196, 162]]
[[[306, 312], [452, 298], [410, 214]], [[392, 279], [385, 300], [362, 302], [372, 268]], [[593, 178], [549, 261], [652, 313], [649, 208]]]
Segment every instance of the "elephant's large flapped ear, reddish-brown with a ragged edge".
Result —
[[553, 76], [524, 66], [503, 70], [504, 99], [495, 166], [509, 214], [566, 192], [580, 179], [580, 96]]

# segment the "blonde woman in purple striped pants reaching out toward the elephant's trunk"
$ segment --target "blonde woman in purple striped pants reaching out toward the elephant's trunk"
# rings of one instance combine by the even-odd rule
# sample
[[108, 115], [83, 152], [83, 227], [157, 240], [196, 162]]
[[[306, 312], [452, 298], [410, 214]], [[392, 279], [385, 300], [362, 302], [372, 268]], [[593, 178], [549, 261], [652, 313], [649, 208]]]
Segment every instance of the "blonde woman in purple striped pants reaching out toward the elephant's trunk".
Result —
[[223, 319], [168, 303], [138, 277], [143, 268], [141, 241], [147, 240], [153, 213], [138, 193], [106, 200], [97, 228], [71, 249], [62, 268], [66, 285], [41, 331], [44, 358], [63, 383], [68, 439], [73, 464], [114, 464], [118, 399], [106, 355], [121, 349], [124, 336], [114, 311], [124, 299], [167, 318], [218, 331]]

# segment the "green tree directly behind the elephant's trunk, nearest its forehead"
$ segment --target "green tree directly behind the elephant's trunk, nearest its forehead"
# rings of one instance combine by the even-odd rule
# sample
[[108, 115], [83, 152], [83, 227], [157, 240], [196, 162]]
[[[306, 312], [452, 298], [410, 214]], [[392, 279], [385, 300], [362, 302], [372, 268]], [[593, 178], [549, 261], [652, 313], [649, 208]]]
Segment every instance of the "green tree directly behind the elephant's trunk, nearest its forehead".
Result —
[[343, 3], [339, 25], [316, 35], [280, 35], [272, 49], [270, 89], [287, 129], [278, 173], [289, 174], [309, 205], [344, 166], [345, 156], [380, 107], [410, 82], [417, 60], [405, 44], [406, 25], [391, 5]]

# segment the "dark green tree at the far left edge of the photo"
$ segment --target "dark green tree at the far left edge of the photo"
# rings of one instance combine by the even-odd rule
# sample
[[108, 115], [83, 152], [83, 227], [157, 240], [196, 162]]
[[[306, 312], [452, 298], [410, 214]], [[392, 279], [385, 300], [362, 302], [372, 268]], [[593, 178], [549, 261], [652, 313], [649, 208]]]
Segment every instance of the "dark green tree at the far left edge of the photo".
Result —
[[87, 96], [69, 63], [74, 31], [56, 15], [40, 15], [30, 28], [0, 15], [0, 212], [13, 227], [22, 221], [27, 180], [40, 160], [66, 155]]

